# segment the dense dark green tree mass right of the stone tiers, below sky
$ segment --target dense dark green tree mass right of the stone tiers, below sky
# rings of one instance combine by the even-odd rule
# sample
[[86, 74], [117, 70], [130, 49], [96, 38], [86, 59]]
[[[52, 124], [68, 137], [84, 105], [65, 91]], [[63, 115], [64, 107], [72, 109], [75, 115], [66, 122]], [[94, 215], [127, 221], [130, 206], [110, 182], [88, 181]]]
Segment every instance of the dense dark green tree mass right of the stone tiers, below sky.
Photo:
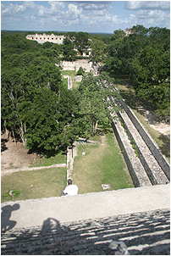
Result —
[[105, 66], [110, 75], [127, 75], [137, 96], [152, 103], [163, 120], [170, 114], [170, 31], [142, 25], [130, 36], [114, 31], [106, 46]]

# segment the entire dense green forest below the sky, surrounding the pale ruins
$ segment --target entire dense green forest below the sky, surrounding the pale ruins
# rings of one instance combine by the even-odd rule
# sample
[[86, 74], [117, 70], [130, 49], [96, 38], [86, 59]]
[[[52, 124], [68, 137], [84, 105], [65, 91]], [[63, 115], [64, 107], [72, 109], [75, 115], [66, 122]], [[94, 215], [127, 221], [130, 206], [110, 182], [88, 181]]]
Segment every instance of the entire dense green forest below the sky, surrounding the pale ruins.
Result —
[[[136, 95], [169, 120], [168, 29], [136, 25], [130, 36], [121, 30], [108, 36], [68, 32], [63, 33], [62, 45], [41, 45], [27, 40], [27, 34], [2, 31], [1, 36], [2, 131], [22, 140], [25, 147], [49, 153], [66, 147], [75, 136], [96, 134], [98, 125], [105, 130], [109, 120], [104, 102], [113, 94], [104, 83], [109, 77], [129, 77]], [[101, 63], [105, 72], [97, 77], [84, 75], [80, 87], [70, 91], [55, 64], [61, 59], [83, 58], [88, 48], [89, 59]]]

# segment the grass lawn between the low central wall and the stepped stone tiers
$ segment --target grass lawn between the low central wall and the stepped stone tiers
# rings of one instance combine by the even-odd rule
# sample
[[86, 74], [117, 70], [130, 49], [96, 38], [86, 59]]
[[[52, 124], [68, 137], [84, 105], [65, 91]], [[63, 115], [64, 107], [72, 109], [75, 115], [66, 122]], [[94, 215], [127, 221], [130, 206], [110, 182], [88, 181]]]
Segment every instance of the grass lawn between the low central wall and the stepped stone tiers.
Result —
[[134, 187], [113, 133], [106, 135], [105, 145], [79, 145], [73, 172], [80, 193], [102, 192], [102, 184], [109, 190]]

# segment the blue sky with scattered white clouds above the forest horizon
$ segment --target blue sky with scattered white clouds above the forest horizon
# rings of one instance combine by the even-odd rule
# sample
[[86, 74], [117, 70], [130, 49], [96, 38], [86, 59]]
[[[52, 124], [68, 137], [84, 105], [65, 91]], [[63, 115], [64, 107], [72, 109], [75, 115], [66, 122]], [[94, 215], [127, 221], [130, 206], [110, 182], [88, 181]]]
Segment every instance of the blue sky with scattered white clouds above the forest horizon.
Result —
[[170, 1], [1, 1], [1, 30], [113, 33], [170, 29]]

